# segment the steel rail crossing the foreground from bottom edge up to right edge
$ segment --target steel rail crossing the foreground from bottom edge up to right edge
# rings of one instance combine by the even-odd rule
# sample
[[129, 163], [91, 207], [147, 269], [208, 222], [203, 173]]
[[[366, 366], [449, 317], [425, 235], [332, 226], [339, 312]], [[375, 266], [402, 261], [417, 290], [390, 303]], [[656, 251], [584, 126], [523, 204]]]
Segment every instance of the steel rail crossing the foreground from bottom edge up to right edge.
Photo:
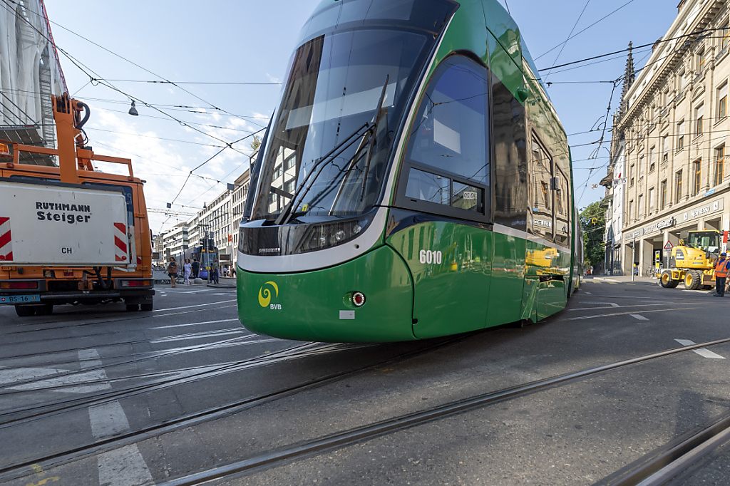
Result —
[[[691, 346], [675, 347], [669, 350], [655, 352], [649, 355], [643, 355], [638, 358], [629, 358], [626, 360], [617, 361], [615, 363], [595, 366], [588, 369], [583, 369], [581, 371], [561, 374], [555, 377], [539, 379], [534, 382], [529, 382], [522, 385], [515, 385], [512, 387], [503, 388], [501, 390], [481, 393], [478, 395], [461, 398], [456, 401], [451, 401], [447, 404], [423, 409], [418, 412], [401, 414], [396, 417], [391, 417], [387, 420], [369, 423], [366, 425], [360, 425], [358, 427], [350, 428], [345, 431], [338, 431], [328, 434], [326, 436], [320, 436], [315, 439], [300, 441], [283, 447], [277, 447], [273, 450], [264, 451], [257, 455], [250, 456], [249, 458], [238, 460], [233, 463], [228, 463], [223, 466], [216, 466], [215, 468], [199, 471], [193, 474], [189, 474], [185, 477], [170, 479], [169, 481], [162, 484], [165, 486], [198, 485], [202, 482], [212, 481], [215, 479], [222, 479], [225, 477], [237, 477], [253, 472], [264, 471], [269, 468], [281, 466], [285, 463], [291, 463], [299, 459], [318, 455], [322, 452], [341, 449], [342, 447], [347, 447], [360, 442], [369, 441], [380, 436], [403, 431], [407, 428], [412, 428], [443, 418], [452, 417], [456, 414], [469, 412], [474, 409], [480, 409], [485, 406], [509, 401], [514, 398], [520, 398], [522, 396], [527, 396], [542, 390], [550, 390], [563, 385], [568, 385], [569, 383], [576, 382], [580, 379], [585, 379], [587, 377], [606, 373], [615, 369], [623, 369], [628, 366], [645, 363], [651, 360], [664, 358], [666, 356], [691, 352], [702, 347], [711, 347], [717, 346], [719, 344], [729, 343], [730, 338], [726, 338], [717, 339], [710, 342], [704, 342], [701, 344], [693, 344]], [[723, 434], [727, 434], [728, 439], [730, 439], [730, 417], [727, 418], [727, 423], [723, 422], [723, 425], [725, 427]], [[629, 485], [636, 483], [627, 482], [625, 484]], [[651, 484], [653, 486], [659, 483], [648, 484]]]

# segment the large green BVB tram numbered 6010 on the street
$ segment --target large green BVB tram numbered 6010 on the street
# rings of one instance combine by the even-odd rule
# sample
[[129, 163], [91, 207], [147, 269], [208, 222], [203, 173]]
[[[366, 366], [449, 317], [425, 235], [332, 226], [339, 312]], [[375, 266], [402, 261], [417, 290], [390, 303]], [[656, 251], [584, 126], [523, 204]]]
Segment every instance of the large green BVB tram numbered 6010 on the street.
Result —
[[246, 328], [396, 342], [564, 309], [569, 147], [496, 0], [323, 0], [298, 45], [240, 227]]

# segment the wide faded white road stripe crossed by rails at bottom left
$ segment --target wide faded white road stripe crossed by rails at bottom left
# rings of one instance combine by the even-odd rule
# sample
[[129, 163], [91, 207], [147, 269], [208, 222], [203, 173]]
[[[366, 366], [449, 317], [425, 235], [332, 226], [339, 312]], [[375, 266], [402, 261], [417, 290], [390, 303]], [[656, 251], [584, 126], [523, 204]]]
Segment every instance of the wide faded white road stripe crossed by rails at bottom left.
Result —
[[[96, 353], [96, 350], [88, 350]], [[101, 362], [101, 360], [100, 360]], [[107, 377], [104, 369], [100, 370]], [[108, 385], [108, 383], [107, 383]], [[119, 401], [94, 405], [88, 408], [91, 433], [96, 439], [107, 439], [129, 430], [129, 420]], [[150, 469], [139, 453], [137, 444], [110, 450], [96, 456], [99, 471], [99, 485], [132, 486], [154, 484]]]

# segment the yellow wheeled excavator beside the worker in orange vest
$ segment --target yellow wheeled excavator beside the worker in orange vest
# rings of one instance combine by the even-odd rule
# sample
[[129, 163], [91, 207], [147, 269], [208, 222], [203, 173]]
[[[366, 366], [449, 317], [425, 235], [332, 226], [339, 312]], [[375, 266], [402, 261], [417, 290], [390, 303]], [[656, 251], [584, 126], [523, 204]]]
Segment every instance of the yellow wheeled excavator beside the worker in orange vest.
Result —
[[687, 290], [715, 285], [715, 262], [721, 246], [720, 231], [689, 231], [687, 238], [672, 248], [669, 268], [657, 274], [659, 283], [664, 288], [675, 288], [683, 282]]

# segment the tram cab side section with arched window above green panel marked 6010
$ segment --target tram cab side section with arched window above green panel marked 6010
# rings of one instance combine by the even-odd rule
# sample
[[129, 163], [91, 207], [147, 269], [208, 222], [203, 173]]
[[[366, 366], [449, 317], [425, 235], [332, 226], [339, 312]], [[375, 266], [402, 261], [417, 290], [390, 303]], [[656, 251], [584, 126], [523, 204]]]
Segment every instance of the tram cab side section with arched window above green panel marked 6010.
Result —
[[466, 56], [446, 58], [410, 128], [396, 193], [396, 206], [407, 210], [404, 229], [389, 243], [413, 277], [418, 338], [485, 325], [491, 274], [487, 74]]

